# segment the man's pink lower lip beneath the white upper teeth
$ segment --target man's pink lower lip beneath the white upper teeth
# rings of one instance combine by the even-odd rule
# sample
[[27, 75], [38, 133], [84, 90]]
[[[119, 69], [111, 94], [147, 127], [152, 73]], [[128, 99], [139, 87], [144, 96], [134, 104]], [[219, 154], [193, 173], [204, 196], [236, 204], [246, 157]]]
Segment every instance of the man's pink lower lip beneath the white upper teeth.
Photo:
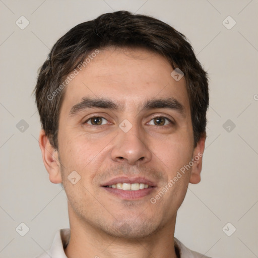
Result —
[[124, 199], [124, 200], [137, 200], [150, 195], [155, 187], [144, 188], [136, 191], [132, 190], [120, 190], [117, 188], [103, 187], [106, 191], [112, 193], [113, 195]]

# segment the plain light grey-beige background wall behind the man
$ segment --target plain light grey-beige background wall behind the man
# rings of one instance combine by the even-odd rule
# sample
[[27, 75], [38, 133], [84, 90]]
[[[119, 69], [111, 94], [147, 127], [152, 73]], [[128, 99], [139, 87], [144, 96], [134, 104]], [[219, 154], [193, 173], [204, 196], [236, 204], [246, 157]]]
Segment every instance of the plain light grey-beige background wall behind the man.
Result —
[[35, 257], [69, 227], [65, 192], [42, 162], [31, 94], [59, 37], [118, 10], [152, 15], [185, 34], [210, 76], [202, 181], [189, 185], [175, 236], [214, 258], [258, 257], [257, 0], [0, 0], [0, 10], [0, 257]]

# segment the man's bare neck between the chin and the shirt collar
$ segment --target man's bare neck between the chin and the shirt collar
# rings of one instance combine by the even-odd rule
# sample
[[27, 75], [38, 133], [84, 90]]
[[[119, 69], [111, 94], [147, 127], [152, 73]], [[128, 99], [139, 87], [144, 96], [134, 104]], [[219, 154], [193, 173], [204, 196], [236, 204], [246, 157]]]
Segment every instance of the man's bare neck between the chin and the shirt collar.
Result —
[[[69, 206], [69, 205], [68, 205]], [[68, 258], [176, 258], [174, 247], [175, 218], [152, 235], [140, 239], [111, 236], [81, 221], [69, 207], [70, 241], [64, 252]]]

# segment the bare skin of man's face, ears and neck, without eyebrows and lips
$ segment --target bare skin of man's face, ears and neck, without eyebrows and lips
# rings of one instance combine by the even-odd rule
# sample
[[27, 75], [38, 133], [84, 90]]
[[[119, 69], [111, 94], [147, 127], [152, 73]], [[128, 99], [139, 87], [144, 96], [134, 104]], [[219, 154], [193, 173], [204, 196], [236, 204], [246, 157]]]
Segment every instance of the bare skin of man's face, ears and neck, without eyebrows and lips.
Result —
[[[164, 57], [145, 49], [101, 50], [65, 89], [58, 152], [40, 132], [49, 179], [62, 182], [68, 197], [71, 238], [65, 252], [69, 258], [176, 257], [176, 213], [188, 183], [201, 180], [202, 158], [155, 204], [150, 198], [191, 158], [204, 152], [205, 138], [194, 148], [185, 80], [176, 82], [172, 71]], [[83, 97], [111, 100], [118, 109], [94, 107], [69, 115]], [[183, 112], [143, 109], [148, 100], [167, 98], [176, 99]], [[106, 120], [92, 125], [93, 115]], [[155, 117], [163, 117], [165, 124], [155, 124]], [[119, 127], [124, 119], [132, 124], [127, 133]], [[72, 171], [81, 176], [76, 184], [68, 180]], [[156, 187], [143, 198], [124, 200], [102, 186], [121, 175], [147, 178]]]

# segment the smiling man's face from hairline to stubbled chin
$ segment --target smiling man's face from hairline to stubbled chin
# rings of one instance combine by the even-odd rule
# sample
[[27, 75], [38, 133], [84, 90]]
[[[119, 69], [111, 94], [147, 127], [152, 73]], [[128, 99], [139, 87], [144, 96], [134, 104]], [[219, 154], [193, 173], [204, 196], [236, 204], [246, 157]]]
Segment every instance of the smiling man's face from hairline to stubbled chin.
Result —
[[194, 148], [185, 80], [172, 71], [148, 50], [108, 48], [69, 83], [59, 163], [47, 170], [63, 183], [70, 220], [127, 238], [173, 225], [189, 181], [200, 181], [204, 140]]

